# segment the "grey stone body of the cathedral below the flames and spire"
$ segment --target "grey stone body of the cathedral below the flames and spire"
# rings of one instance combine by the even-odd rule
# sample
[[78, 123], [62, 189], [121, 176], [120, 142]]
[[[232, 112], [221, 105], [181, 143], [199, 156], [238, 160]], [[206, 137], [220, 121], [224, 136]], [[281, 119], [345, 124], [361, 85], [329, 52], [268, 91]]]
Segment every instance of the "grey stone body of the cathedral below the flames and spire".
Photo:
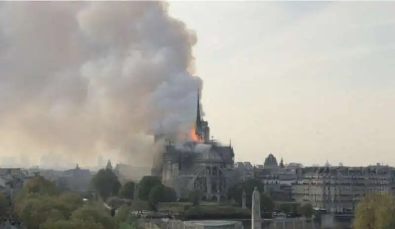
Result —
[[162, 182], [179, 198], [201, 190], [203, 199], [225, 199], [234, 181], [234, 152], [216, 143], [184, 142], [182, 148], [167, 145], [163, 154]]

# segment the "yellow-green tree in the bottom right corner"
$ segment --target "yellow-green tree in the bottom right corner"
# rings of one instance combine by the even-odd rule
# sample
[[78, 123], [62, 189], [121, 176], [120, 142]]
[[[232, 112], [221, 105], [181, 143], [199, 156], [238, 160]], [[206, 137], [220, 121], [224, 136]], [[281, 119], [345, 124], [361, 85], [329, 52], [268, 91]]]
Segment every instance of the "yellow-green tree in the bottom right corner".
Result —
[[353, 229], [393, 229], [395, 200], [388, 193], [366, 195], [356, 206]]

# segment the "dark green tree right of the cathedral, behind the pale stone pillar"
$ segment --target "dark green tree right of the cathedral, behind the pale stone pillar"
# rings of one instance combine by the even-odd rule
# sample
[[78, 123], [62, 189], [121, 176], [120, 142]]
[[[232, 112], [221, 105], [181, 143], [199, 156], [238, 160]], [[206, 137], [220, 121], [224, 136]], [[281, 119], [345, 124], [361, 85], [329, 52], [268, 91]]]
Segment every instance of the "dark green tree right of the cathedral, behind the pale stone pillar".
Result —
[[264, 191], [264, 185], [263, 183], [258, 180], [258, 179], [248, 179], [245, 181], [242, 181], [235, 186], [231, 187], [228, 190], [228, 197], [230, 199], [233, 199], [236, 201], [236, 203], [241, 206], [242, 204], [242, 193], [243, 190], [245, 190], [245, 200], [246, 200], [246, 205], [248, 208], [251, 208], [252, 204], [252, 192], [254, 191], [255, 187], [258, 188], [258, 191], [260, 193], [263, 193]]

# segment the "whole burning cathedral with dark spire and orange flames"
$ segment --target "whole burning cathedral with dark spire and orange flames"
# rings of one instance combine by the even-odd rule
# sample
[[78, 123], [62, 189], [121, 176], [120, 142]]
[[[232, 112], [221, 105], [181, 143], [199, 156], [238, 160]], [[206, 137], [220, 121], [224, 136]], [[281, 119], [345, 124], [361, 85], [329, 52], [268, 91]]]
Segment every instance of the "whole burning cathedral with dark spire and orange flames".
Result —
[[158, 134], [154, 141], [164, 141], [161, 158], [152, 169], [162, 183], [172, 187], [178, 198], [187, 198], [198, 189], [204, 200], [220, 201], [237, 182], [233, 169], [232, 146], [223, 146], [210, 139], [210, 127], [200, 116], [200, 96], [197, 95], [197, 116], [186, 140], [176, 140], [169, 134]]

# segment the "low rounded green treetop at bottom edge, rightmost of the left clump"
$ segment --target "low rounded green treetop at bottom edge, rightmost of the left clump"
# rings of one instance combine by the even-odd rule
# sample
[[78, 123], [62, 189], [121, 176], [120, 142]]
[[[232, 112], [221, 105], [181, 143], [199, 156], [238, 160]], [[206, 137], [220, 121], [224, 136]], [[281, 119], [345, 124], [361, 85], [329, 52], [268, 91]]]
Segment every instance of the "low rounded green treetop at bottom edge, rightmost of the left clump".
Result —
[[73, 221], [82, 220], [97, 222], [103, 225], [105, 229], [113, 229], [115, 225], [113, 218], [106, 212], [106, 209], [99, 206], [83, 206], [75, 210], [70, 219]]

